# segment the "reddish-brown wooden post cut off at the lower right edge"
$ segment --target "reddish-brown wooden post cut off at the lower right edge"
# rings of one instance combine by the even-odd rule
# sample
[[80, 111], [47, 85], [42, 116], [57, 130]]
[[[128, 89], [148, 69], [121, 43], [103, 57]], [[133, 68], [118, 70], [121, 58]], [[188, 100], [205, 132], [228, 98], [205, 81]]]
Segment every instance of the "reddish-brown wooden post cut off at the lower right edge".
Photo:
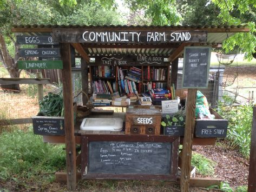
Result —
[[248, 191], [256, 191], [256, 105], [253, 107]]

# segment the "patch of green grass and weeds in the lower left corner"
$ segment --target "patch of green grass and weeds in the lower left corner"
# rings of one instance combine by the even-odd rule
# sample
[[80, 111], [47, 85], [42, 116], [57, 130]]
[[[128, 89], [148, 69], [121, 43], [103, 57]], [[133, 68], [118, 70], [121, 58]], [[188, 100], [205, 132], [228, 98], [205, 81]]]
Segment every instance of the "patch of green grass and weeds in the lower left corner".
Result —
[[65, 167], [65, 151], [62, 147], [43, 143], [42, 136], [34, 135], [31, 128], [28, 132], [15, 130], [2, 133], [0, 180], [29, 180], [45, 175], [51, 178], [55, 171]]

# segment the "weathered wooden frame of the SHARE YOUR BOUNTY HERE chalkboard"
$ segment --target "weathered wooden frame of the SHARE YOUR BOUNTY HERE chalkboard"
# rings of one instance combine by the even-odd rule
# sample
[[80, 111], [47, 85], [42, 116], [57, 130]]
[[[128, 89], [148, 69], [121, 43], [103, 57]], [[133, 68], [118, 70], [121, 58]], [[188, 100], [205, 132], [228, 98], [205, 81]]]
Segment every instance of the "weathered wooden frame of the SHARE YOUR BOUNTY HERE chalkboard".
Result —
[[[187, 49], [208, 49], [208, 59], [207, 59], [207, 74], [206, 74], [206, 79], [205, 79], [205, 84], [202, 86], [185, 86], [185, 76], [186, 76], [186, 50]], [[194, 46], [194, 47], [185, 47], [184, 48], [184, 58], [183, 58], [183, 71], [182, 71], [182, 88], [184, 89], [198, 89], [198, 88], [208, 88], [208, 79], [209, 79], [209, 69], [210, 69], [210, 64], [211, 64], [211, 51], [212, 47], [204, 47], [204, 46]]]

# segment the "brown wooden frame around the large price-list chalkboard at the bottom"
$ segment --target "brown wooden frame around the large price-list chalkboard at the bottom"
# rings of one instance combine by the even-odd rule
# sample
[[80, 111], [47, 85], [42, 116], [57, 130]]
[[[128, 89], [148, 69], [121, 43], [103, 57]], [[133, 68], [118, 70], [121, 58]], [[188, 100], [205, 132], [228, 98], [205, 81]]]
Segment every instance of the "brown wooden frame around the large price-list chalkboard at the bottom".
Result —
[[[169, 142], [172, 143], [170, 156], [170, 174], [109, 174], [90, 173], [88, 146], [91, 141], [122, 142]], [[81, 178], [82, 179], [116, 179], [116, 180], [166, 180], [176, 181], [178, 171], [178, 152], [180, 137], [164, 135], [124, 135], [124, 134], [82, 134], [81, 135]], [[150, 160], [148, 160], [150, 161]], [[86, 171], [85, 171], [86, 170]]]

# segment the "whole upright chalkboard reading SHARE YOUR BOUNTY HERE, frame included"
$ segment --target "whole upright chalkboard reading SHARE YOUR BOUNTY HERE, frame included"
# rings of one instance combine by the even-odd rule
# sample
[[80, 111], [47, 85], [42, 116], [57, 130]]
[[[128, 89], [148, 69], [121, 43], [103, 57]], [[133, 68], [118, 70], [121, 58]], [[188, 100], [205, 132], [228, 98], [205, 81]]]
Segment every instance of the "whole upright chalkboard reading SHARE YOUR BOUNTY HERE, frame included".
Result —
[[211, 47], [185, 47], [183, 88], [207, 88]]

